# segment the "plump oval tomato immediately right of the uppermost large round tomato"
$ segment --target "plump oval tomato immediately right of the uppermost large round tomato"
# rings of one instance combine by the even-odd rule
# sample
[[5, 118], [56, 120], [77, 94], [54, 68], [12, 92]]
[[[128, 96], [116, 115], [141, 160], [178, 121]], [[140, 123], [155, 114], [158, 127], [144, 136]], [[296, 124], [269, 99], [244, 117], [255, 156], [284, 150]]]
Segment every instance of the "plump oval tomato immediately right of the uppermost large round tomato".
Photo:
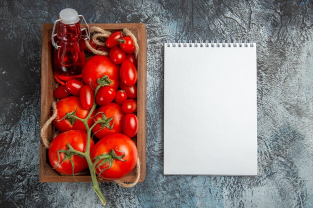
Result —
[[124, 60], [120, 66], [119, 76], [121, 83], [124, 85], [134, 85], [137, 82], [137, 70], [135, 65], [129, 60]]

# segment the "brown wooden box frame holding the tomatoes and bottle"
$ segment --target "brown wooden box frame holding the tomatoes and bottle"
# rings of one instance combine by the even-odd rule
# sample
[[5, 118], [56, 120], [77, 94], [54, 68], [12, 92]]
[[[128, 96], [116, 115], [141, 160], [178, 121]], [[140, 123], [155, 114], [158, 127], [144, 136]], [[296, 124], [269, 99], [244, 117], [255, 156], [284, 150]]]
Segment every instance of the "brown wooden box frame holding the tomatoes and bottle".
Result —
[[[138, 118], [138, 132], [134, 142], [138, 150], [138, 158], [140, 160], [140, 178], [142, 182], [145, 178], [145, 111], [146, 111], [146, 29], [143, 23], [120, 23], [120, 24], [89, 24], [91, 26], [98, 26], [108, 31], [129, 29], [137, 38], [139, 44], [139, 53], [137, 58], [137, 118]], [[85, 27], [81, 24], [81, 28]], [[55, 80], [53, 77], [53, 51], [51, 44], [51, 32], [53, 24], [42, 24], [41, 27], [41, 120], [40, 128], [51, 116], [51, 103], [54, 101], [53, 90], [55, 88]], [[54, 135], [54, 128], [52, 124], [46, 131], [46, 136], [52, 140]], [[75, 176], [61, 176], [54, 171], [49, 163], [48, 150], [40, 140], [40, 182], [91, 182], [90, 175]], [[98, 177], [97, 177], [98, 178]], [[135, 173], [132, 171], [127, 176], [120, 178], [122, 182], [133, 182]], [[99, 182], [107, 182], [105, 180], [98, 180]]]

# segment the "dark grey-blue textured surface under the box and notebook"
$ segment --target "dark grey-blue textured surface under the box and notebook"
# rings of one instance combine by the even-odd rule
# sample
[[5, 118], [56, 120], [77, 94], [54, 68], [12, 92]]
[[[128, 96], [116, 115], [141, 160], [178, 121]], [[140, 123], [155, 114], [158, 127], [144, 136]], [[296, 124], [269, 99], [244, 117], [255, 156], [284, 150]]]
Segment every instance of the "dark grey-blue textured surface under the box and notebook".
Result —
[[[90, 23], [147, 28], [146, 178], [131, 189], [101, 184], [108, 207], [313, 207], [308, 0], [0, 0], [0, 207], [100, 207], [89, 183], [38, 182], [40, 26], [64, 7]], [[245, 37], [257, 42], [258, 176], [163, 176], [162, 43]]]

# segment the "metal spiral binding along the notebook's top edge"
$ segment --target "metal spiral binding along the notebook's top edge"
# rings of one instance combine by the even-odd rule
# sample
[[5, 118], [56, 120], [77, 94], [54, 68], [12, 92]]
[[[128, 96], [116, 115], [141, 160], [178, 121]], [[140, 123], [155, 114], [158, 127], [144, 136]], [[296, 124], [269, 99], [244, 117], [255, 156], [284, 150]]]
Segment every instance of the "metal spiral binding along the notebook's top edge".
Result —
[[166, 41], [166, 46], [167, 47], [254, 47], [253, 44], [253, 39], [250, 39], [251, 41], [248, 41], [247, 39], [244, 39], [243, 41], [241, 39], [235, 40], [233, 39], [232, 42], [230, 39], [228, 39], [227, 41], [225, 40], [221, 40], [219, 41], [219, 39], [212, 39], [210, 42], [208, 40], [205, 40], [205, 42], [203, 42], [203, 40], [194, 40], [194, 42], [192, 43], [192, 40], [189, 40], [188, 42], [186, 40], [178, 40], [177, 43], [175, 42], [175, 40]]

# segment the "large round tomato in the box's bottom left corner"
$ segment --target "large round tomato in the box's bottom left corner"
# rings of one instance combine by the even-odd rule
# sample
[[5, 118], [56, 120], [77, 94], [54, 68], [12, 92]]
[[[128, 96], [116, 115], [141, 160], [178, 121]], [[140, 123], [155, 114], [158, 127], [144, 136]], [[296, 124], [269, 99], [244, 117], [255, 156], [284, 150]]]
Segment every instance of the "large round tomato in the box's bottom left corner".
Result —
[[[85, 152], [87, 145], [87, 134], [78, 131], [71, 130], [57, 135], [51, 142], [49, 147], [49, 161], [50, 164], [55, 170], [61, 174], [71, 175], [72, 174], [72, 165], [70, 160], [67, 158], [64, 163], [62, 163], [65, 154], [59, 153], [60, 162], [58, 162], [57, 151], [58, 150], [67, 150], [67, 143], [77, 151]], [[90, 139], [90, 150], [94, 147], [94, 143], [92, 139]], [[87, 161], [85, 158], [79, 157], [77, 155], [72, 155], [70, 157], [72, 162], [74, 163], [74, 174], [79, 173], [80, 171], [86, 169], [88, 167]], [[59, 165], [61, 164], [62, 165]], [[57, 166], [59, 165], [59, 166]]]

